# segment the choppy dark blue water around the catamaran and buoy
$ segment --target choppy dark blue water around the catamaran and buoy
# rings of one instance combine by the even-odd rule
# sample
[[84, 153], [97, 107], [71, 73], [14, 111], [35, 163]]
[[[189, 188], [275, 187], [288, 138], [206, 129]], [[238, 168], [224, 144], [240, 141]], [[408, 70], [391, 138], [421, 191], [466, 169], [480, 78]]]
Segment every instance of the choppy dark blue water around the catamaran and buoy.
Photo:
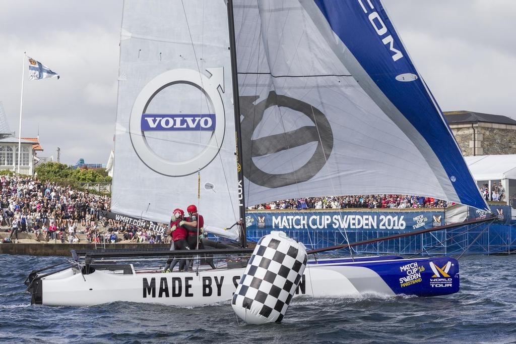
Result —
[[294, 299], [281, 324], [228, 304], [30, 306], [23, 280], [61, 257], [0, 255], [0, 342], [516, 342], [516, 256], [469, 256], [461, 291], [435, 298]]

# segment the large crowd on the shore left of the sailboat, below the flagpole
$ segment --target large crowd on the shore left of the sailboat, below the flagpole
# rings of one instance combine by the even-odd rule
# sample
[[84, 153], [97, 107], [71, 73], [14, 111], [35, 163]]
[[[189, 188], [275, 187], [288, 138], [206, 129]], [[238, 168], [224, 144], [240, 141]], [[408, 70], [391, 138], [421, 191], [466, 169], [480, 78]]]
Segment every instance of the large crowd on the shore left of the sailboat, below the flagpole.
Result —
[[0, 177], [0, 225], [11, 232], [11, 240], [16, 241], [19, 232], [27, 232], [34, 233], [38, 241], [70, 244], [80, 242], [78, 233], [86, 234], [87, 243], [167, 241], [154, 231], [101, 217], [101, 211], [109, 210], [110, 201], [108, 196], [37, 178]]

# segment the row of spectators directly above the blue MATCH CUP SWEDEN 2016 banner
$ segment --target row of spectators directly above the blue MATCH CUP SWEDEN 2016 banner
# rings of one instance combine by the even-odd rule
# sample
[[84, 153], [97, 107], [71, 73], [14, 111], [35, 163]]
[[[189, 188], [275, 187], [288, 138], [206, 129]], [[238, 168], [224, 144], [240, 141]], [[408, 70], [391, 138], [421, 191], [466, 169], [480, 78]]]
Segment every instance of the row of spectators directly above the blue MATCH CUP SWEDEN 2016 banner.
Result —
[[249, 207], [258, 209], [347, 209], [347, 208], [444, 208], [441, 199], [410, 195], [357, 195], [285, 199]]

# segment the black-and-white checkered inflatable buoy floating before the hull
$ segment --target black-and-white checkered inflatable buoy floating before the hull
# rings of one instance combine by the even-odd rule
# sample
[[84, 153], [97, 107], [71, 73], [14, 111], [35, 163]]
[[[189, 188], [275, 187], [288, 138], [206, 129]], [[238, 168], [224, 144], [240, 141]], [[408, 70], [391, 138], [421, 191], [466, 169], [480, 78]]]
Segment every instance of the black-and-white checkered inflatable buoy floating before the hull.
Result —
[[256, 245], [233, 295], [236, 315], [249, 324], [280, 322], [307, 266], [307, 249], [272, 231]]

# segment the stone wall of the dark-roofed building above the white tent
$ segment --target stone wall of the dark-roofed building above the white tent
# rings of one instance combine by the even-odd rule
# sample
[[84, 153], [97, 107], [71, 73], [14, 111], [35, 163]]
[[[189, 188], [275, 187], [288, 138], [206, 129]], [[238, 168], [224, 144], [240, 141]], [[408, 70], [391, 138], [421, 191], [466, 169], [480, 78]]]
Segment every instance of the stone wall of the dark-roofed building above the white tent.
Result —
[[464, 156], [516, 154], [516, 126], [478, 122], [450, 128]]

